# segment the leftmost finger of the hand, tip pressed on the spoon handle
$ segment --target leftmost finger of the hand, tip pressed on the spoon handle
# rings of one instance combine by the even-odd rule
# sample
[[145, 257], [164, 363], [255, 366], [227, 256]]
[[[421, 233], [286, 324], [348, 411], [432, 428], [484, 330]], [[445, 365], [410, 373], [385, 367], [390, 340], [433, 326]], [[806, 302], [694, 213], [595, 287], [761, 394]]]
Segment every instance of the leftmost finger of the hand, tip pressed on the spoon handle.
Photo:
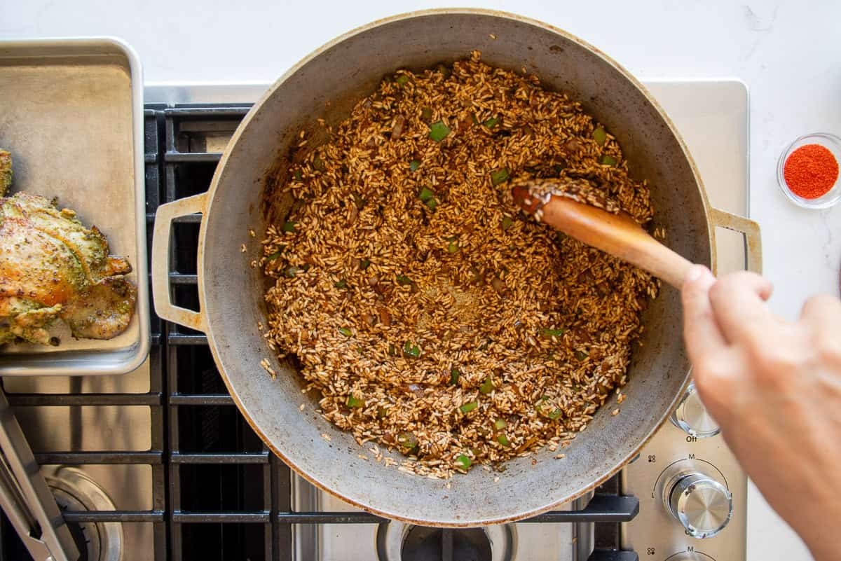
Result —
[[684, 306], [684, 338], [690, 361], [720, 352], [726, 342], [712, 314], [710, 288], [716, 277], [701, 265], [694, 265], [686, 274], [680, 291]]

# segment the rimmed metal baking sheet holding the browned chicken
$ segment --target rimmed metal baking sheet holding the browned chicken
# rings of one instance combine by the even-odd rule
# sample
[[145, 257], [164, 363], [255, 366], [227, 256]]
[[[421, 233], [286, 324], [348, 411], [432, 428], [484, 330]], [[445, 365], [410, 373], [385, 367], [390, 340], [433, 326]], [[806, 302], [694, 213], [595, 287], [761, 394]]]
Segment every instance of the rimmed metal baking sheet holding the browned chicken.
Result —
[[0, 147], [13, 157], [12, 192], [56, 197], [111, 252], [128, 256], [137, 285], [130, 326], [107, 341], [75, 339], [56, 322], [57, 347], [0, 346], [0, 375], [124, 374], [149, 353], [143, 80], [118, 39], [0, 41]]

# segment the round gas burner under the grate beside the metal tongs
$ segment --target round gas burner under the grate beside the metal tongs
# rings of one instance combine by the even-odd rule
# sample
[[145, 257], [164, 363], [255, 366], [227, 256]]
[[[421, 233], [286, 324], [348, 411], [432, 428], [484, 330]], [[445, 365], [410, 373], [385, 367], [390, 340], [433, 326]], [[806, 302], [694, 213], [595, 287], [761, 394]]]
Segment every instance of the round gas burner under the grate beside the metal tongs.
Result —
[[[81, 469], [45, 467], [44, 478], [61, 511], [114, 511], [111, 497]], [[123, 526], [119, 522], [68, 522], [79, 561], [123, 561]]]

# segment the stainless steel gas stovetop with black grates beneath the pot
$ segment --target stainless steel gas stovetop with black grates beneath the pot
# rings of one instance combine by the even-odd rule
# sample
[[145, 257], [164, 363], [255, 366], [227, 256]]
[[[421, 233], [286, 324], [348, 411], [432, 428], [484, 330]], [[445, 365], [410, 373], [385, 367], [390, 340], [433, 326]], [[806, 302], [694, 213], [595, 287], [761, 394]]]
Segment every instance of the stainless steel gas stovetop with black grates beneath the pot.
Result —
[[[711, 203], [746, 214], [743, 84], [651, 81], [648, 87], [689, 144]], [[146, 88], [150, 247], [157, 206], [207, 190], [230, 135], [265, 88]], [[193, 309], [198, 307], [196, 218], [173, 225], [170, 275], [173, 302]], [[717, 238], [719, 271], [742, 269], [741, 236], [720, 230]], [[292, 474], [236, 410], [204, 335], [152, 315], [150, 358], [130, 375], [3, 380], [35, 459], [82, 544], [82, 558], [745, 557], [746, 478], [691, 391], [674, 423], [594, 496], [529, 522], [473, 530], [409, 527], [356, 511]], [[5, 517], [0, 542], [0, 561], [28, 558]]]

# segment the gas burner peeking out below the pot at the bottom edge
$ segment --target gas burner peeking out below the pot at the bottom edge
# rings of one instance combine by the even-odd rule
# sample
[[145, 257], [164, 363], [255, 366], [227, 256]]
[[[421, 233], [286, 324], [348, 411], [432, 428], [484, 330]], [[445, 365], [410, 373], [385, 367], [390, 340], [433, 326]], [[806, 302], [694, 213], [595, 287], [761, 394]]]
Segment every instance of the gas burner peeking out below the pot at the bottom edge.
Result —
[[509, 561], [516, 530], [511, 526], [437, 528], [389, 522], [377, 529], [379, 561]]

